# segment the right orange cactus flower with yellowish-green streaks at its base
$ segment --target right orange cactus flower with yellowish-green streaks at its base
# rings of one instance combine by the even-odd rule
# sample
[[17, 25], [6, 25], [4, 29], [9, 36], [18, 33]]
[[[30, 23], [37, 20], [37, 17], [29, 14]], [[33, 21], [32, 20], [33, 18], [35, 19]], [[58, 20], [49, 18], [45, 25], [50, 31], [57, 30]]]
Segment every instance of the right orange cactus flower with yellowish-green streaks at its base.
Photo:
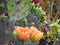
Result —
[[36, 27], [31, 26], [30, 27], [30, 32], [31, 32], [31, 39], [33, 41], [39, 41], [43, 37], [43, 33], [40, 32]]

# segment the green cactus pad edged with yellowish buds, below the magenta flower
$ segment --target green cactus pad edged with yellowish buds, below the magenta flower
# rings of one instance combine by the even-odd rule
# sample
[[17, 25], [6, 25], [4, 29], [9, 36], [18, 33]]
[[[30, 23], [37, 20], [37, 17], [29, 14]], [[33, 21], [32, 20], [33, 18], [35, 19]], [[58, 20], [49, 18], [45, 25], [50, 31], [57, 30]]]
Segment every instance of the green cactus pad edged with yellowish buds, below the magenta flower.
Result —
[[35, 5], [34, 3], [32, 4], [32, 12], [34, 15], [38, 17], [41, 21], [44, 21], [44, 16], [46, 15], [46, 12], [42, 10], [42, 7], [40, 4]]

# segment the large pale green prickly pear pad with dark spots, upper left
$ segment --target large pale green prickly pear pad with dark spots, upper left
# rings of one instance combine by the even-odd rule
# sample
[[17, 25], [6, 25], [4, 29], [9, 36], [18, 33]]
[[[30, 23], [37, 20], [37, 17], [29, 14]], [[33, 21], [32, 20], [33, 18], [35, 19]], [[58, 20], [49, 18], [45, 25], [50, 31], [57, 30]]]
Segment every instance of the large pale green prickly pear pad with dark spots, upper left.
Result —
[[30, 13], [30, 0], [7, 0], [9, 21], [17, 21]]

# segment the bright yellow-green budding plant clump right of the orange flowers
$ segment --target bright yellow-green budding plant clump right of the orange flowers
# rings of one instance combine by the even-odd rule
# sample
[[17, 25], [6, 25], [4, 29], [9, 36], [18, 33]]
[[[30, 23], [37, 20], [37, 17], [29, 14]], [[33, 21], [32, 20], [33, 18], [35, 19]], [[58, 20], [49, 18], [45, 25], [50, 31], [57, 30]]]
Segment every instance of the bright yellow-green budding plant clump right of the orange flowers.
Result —
[[50, 24], [50, 31], [48, 31], [45, 36], [45, 37], [47, 37], [46, 41], [47, 42], [57, 41], [58, 40], [58, 37], [57, 37], [58, 30], [59, 30], [59, 25], [57, 23]]

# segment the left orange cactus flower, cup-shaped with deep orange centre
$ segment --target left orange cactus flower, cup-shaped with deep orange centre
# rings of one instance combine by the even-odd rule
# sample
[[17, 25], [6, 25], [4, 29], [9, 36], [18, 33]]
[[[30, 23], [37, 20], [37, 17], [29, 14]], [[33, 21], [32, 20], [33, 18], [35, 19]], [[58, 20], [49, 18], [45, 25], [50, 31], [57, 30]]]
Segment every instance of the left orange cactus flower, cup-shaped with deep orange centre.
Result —
[[18, 37], [22, 40], [22, 41], [26, 41], [29, 37], [29, 28], [28, 27], [15, 27], [15, 31], [18, 34]]

